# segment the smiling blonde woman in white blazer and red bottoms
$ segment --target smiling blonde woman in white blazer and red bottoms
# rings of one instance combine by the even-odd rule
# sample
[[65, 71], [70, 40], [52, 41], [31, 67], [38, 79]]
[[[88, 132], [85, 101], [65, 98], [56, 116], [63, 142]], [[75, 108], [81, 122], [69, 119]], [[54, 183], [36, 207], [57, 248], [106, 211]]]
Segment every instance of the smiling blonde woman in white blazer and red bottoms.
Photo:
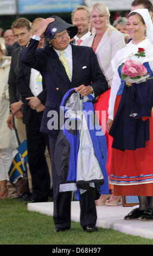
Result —
[[[93, 48], [95, 54], [98, 58], [98, 63], [100, 65], [103, 74], [106, 77], [106, 80], [111, 88], [113, 70], [111, 66], [111, 60], [117, 53], [117, 51], [125, 47], [124, 36], [122, 33], [117, 31], [116, 28], [110, 25], [110, 11], [103, 3], [95, 3], [90, 9], [91, 16], [91, 25], [94, 27], [95, 33], [91, 36], [88, 36], [84, 42], [81, 43], [81, 46], [90, 46]], [[95, 111], [99, 112], [99, 123], [106, 131], [106, 121], [108, 118], [107, 109], [109, 107], [109, 97], [110, 89], [105, 93], [101, 94], [94, 104]], [[103, 113], [106, 114], [102, 115]], [[103, 120], [101, 120], [103, 119]], [[106, 141], [107, 141], [107, 163], [106, 169], [107, 174], [110, 174], [110, 160], [111, 160], [111, 145], [112, 138], [109, 136], [108, 132], [105, 132]], [[113, 186], [110, 185], [110, 190]], [[111, 198], [110, 198], [111, 197]], [[110, 198], [110, 199], [109, 199]], [[109, 199], [109, 200], [107, 200]], [[113, 197], [111, 194], [101, 194], [100, 198], [95, 201], [97, 205], [117, 205], [120, 197]], [[107, 200], [107, 202], [106, 202]]]

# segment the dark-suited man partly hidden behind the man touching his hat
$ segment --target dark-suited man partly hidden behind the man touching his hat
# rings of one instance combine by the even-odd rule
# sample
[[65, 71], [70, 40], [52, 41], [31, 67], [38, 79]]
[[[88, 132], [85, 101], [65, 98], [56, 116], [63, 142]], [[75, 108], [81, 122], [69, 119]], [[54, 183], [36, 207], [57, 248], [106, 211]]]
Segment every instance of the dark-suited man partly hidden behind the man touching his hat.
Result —
[[[31, 25], [31, 33], [37, 31], [43, 18], [36, 18]], [[38, 48], [43, 47], [43, 36]], [[25, 124], [28, 148], [28, 163], [33, 193], [30, 203], [47, 202], [50, 193], [50, 176], [46, 162], [46, 145], [49, 140], [46, 133], [40, 132], [41, 119], [47, 92], [40, 72], [20, 63], [17, 76], [17, 89], [23, 101], [23, 124]]]

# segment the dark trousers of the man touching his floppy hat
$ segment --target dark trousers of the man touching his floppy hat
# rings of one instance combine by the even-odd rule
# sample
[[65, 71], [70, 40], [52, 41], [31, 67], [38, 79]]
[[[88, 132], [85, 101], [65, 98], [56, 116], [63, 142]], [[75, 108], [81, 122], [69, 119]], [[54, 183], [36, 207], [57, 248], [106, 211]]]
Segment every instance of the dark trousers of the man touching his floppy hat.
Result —
[[[56, 228], [71, 227], [71, 197], [72, 192], [59, 192], [60, 179], [56, 173], [54, 161], [55, 144], [58, 135], [49, 135], [50, 159], [52, 164], [54, 223]], [[95, 190], [86, 191], [80, 196], [80, 225], [95, 224], [97, 212], [95, 208]]]

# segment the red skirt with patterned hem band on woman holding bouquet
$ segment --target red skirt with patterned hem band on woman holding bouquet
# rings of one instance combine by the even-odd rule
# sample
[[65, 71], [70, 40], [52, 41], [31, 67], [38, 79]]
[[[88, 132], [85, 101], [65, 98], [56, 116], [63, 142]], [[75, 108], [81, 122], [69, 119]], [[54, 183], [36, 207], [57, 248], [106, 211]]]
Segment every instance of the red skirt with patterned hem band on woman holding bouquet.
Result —
[[[114, 114], [121, 95], [116, 97]], [[110, 182], [114, 196], [153, 196], [153, 119], [149, 118], [150, 140], [145, 148], [118, 150], [112, 148]], [[136, 181], [131, 185], [130, 179]], [[127, 181], [127, 184], [126, 184]], [[134, 182], [133, 182], [134, 183]]]

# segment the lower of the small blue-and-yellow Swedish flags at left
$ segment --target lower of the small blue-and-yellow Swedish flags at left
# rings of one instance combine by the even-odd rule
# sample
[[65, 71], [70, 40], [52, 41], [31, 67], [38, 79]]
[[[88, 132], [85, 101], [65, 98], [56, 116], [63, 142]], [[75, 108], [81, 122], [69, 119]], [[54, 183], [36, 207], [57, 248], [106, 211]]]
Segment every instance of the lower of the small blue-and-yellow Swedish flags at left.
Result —
[[10, 169], [9, 169], [9, 180], [10, 183], [12, 183], [18, 176], [22, 175], [24, 172], [22, 161], [20, 154], [17, 153], [11, 163]]

